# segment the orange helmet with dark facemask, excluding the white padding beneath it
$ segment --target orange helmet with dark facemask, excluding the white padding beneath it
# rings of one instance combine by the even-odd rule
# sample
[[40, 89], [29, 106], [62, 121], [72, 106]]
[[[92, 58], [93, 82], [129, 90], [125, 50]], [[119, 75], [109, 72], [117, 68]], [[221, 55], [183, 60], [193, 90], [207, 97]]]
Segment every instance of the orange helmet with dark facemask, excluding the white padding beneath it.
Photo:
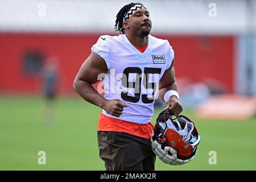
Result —
[[164, 110], [156, 119], [152, 139], [157, 140], [162, 149], [166, 146], [174, 148], [177, 158], [185, 160], [195, 155], [200, 135], [191, 119]]

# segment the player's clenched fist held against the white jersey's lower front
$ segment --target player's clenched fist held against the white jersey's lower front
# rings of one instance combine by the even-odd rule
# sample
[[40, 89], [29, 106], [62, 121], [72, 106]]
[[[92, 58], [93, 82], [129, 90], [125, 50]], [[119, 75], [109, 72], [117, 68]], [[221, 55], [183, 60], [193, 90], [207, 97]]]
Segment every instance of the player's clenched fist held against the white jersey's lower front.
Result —
[[127, 105], [118, 99], [114, 99], [105, 100], [102, 109], [115, 117], [119, 117], [122, 114], [123, 107], [127, 107]]

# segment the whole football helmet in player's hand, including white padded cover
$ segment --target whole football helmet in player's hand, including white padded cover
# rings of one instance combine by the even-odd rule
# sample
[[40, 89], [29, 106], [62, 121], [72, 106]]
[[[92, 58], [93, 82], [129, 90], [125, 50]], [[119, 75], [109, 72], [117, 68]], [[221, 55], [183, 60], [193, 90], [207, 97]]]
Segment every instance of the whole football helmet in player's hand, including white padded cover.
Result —
[[195, 123], [185, 115], [162, 111], [151, 136], [152, 150], [164, 162], [180, 165], [195, 158], [200, 135]]

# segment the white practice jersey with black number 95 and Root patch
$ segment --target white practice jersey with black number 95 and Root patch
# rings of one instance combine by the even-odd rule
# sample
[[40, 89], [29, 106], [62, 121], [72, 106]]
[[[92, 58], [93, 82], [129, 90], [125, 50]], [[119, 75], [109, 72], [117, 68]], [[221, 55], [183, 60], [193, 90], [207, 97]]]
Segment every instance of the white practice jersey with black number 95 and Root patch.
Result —
[[148, 123], [154, 114], [159, 93], [159, 80], [174, 60], [174, 50], [167, 40], [148, 35], [148, 47], [141, 53], [126, 35], [102, 35], [92, 51], [100, 55], [108, 67], [104, 77], [107, 100], [118, 99], [128, 105], [119, 118], [135, 123]]

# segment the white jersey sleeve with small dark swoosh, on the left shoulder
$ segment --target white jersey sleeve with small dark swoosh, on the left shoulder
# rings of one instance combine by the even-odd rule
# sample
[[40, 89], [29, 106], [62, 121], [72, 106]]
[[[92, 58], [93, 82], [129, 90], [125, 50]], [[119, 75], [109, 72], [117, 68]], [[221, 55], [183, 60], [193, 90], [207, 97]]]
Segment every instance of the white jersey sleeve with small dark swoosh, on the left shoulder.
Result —
[[92, 46], [92, 51], [100, 55], [105, 60], [108, 69], [111, 68], [110, 60], [108, 57], [110, 46], [108, 37], [106, 35], [102, 35], [100, 38], [98, 38], [97, 43]]

